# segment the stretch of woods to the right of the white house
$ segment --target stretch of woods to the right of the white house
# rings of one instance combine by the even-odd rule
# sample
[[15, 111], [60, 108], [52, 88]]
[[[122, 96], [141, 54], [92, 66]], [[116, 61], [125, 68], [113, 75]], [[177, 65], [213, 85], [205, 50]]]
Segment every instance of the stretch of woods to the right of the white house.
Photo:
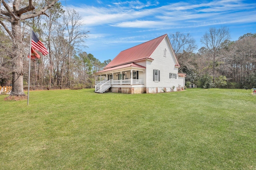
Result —
[[195, 39], [188, 33], [169, 35], [180, 63], [179, 72], [186, 73], [186, 86], [202, 88], [256, 87], [256, 33], [247, 33], [230, 41], [228, 27], [211, 27], [201, 38], [198, 52]]

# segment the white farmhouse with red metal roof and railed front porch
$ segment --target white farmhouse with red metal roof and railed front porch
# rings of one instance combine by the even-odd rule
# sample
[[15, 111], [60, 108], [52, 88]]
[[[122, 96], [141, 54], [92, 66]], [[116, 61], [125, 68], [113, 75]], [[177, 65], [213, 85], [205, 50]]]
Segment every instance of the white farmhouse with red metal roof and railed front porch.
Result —
[[[121, 51], [96, 75], [95, 92], [128, 94], [184, 90], [186, 74], [167, 34]], [[100, 81], [97, 81], [100, 80]]]

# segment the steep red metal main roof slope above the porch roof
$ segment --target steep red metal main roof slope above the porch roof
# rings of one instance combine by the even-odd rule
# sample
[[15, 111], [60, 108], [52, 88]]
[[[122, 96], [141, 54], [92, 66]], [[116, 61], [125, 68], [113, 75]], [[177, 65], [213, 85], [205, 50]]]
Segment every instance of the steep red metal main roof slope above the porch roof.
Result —
[[[156, 47], [161, 43], [161, 41], [167, 36], [167, 34], [142, 43], [140, 45], [136, 45], [131, 47], [130, 49], [126, 49], [121, 51], [104, 69], [111, 68], [114, 66], [132, 63], [134, 61], [139, 61], [142, 59], [151, 59], [150, 55], [154, 52]], [[106, 71], [106, 70], [104, 70]]]

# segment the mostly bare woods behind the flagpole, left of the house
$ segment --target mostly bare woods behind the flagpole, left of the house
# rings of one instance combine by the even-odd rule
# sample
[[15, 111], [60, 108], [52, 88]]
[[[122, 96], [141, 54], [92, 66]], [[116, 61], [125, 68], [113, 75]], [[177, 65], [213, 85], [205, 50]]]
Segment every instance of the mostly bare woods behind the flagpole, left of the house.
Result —
[[[31, 15], [36, 11], [42, 11], [53, 1], [43, 1], [41, 3], [32, 3], [29, 0], [27, 4], [19, 4], [16, 8], [24, 9], [32, 6], [30, 12], [22, 13], [22, 15]], [[1, 14], [6, 16], [15, 16], [16, 12], [10, 10], [10, 6], [1, 1], [6, 10], [1, 10]], [[1, 5], [2, 5], [1, 4]], [[92, 88], [94, 86], [93, 72], [102, 70], [111, 60], [101, 63], [92, 54], [82, 51], [86, 46], [85, 40], [89, 31], [82, 29], [84, 25], [82, 18], [73, 9], [67, 8], [63, 10], [60, 2], [55, 0], [48, 10], [43, 14], [38, 12], [37, 17], [25, 17], [16, 27], [12, 27], [13, 23], [10, 17], [0, 16], [2, 27], [0, 27], [0, 85], [12, 84], [15, 88], [28, 86], [28, 70], [29, 70], [29, 43], [30, 43], [30, 27], [37, 34], [49, 51], [49, 54], [41, 58], [31, 61], [30, 70], [30, 86], [37, 89], [51, 88]], [[7, 33], [10, 34], [7, 34]], [[19, 32], [17, 37], [12, 32]], [[17, 80], [22, 77], [22, 82]], [[24, 85], [18, 86], [18, 84]], [[18, 90], [21, 91], [21, 90]], [[24, 95], [24, 92], [15, 93], [14, 95]]]

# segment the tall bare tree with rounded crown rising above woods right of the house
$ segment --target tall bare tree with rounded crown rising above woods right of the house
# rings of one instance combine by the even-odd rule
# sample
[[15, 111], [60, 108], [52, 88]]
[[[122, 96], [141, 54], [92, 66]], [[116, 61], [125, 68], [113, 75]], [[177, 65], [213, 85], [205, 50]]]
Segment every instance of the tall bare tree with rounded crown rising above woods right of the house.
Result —
[[220, 27], [219, 29], [211, 27], [201, 38], [201, 43], [204, 44], [206, 49], [208, 49], [212, 54], [213, 83], [216, 76], [215, 67], [218, 51], [220, 50], [222, 43], [228, 39], [230, 39], [230, 33], [227, 27]]

